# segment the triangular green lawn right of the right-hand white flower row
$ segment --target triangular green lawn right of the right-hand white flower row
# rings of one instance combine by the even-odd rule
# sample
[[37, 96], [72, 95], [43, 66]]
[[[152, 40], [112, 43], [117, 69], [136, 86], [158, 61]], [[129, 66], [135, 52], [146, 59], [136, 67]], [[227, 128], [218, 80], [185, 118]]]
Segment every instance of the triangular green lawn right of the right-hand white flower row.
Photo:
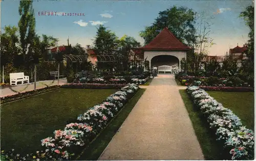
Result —
[[254, 130], [254, 93], [207, 91], [226, 108], [229, 108], [247, 128]]

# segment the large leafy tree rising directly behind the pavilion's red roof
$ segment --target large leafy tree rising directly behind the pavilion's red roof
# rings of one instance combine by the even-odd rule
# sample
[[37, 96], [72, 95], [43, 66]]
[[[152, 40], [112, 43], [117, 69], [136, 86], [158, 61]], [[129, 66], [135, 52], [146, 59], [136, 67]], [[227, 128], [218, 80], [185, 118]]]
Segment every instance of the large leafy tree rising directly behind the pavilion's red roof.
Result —
[[195, 12], [186, 7], [173, 6], [165, 11], [159, 12], [159, 16], [150, 27], [140, 32], [145, 44], [152, 41], [159, 32], [167, 27], [182, 43], [187, 44], [187, 35], [195, 30]]

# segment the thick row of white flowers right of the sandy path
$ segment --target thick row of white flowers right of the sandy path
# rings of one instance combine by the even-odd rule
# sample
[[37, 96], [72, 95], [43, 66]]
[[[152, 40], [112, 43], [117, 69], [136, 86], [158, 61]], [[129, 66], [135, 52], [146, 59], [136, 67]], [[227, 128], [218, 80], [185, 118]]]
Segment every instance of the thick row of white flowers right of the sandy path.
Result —
[[201, 110], [215, 132], [223, 150], [229, 152], [231, 159], [254, 158], [254, 133], [242, 125], [241, 120], [230, 109], [210, 97], [197, 86], [187, 87], [194, 104]]

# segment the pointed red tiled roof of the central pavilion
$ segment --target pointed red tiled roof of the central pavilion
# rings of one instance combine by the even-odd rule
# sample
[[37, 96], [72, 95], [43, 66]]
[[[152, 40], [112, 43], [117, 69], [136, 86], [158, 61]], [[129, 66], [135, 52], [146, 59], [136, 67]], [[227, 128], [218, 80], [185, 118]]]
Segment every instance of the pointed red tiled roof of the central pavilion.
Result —
[[190, 50], [187, 45], [181, 43], [167, 28], [164, 28], [143, 50]]

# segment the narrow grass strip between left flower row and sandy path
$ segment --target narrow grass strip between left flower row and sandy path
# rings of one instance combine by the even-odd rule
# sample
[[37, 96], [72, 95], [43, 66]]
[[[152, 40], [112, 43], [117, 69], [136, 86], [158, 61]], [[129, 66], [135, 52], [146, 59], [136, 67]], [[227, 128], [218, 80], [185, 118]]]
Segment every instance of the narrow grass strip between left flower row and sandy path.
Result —
[[139, 89], [137, 94], [123, 107], [118, 116], [102, 131], [89, 148], [84, 151], [79, 160], [97, 160], [99, 158], [145, 90], [143, 88]]

